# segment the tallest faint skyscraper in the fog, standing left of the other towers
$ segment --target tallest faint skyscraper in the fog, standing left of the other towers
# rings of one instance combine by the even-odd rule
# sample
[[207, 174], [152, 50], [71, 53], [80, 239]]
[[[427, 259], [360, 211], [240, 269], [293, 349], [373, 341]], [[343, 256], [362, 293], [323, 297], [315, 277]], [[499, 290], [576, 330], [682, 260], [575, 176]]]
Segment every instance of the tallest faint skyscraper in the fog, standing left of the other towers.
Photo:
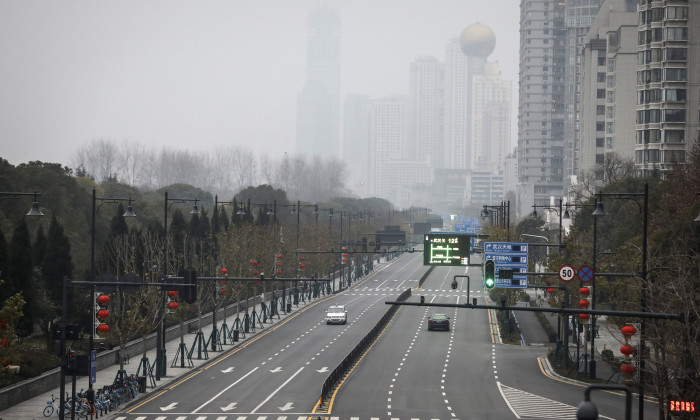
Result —
[[298, 154], [338, 158], [340, 151], [340, 16], [319, 6], [308, 24], [306, 83], [297, 97]]

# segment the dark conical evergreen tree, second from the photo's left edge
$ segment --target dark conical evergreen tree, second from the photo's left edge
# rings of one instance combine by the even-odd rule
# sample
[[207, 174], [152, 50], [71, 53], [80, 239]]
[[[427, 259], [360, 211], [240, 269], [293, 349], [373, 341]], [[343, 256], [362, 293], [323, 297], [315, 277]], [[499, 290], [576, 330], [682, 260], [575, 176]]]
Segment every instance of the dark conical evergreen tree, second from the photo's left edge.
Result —
[[73, 276], [70, 248], [70, 241], [63, 232], [63, 226], [58, 223], [56, 216], [53, 216], [49, 225], [41, 271], [49, 298], [56, 303], [61, 302], [63, 277]]

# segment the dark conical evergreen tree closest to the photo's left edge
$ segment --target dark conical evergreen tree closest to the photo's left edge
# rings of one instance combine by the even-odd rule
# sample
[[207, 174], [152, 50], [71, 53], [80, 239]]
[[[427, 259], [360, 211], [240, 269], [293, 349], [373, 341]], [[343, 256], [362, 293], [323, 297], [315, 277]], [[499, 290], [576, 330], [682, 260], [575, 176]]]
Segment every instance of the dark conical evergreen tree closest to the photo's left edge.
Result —
[[[19, 219], [10, 240], [9, 261], [5, 284], [2, 287], [2, 296], [8, 297], [21, 293], [26, 302], [34, 300], [32, 288], [32, 274], [34, 263], [32, 261], [32, 243], [29, 229], [24, 218]], [[34, 318], [31, 313], [25, 314], [17, 326], [19, 336], [27, 336], [34, 330]]]

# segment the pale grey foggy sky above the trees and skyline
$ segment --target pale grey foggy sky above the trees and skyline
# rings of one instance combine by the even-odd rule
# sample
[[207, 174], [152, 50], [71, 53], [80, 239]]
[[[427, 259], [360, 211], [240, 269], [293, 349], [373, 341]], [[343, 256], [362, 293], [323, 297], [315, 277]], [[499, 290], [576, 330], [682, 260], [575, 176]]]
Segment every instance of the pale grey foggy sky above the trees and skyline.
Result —
[[[0, 0], [0, 157], [65, 165], [93, 139], [295, 152], [318, 0]], [[326, 4], [334, 4], [325, 1]], [[335, 3], [335, 4], [339, 4]], [[343, 1], [346, 93], [407, 94], [409, 64], [490, 26], [517, 107], [517, 0]], [[515, 110], [513, 124], [516, 124]]]

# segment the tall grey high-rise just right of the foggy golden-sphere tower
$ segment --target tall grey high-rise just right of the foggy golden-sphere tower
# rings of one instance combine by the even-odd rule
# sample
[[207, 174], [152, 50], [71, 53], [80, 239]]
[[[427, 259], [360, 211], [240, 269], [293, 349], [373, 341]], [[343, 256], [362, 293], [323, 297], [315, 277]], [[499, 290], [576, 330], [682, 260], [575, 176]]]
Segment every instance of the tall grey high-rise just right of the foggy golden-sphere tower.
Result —
[[565, 3], [520, 3], [518, 200], [516, 213], [564, 192]]

